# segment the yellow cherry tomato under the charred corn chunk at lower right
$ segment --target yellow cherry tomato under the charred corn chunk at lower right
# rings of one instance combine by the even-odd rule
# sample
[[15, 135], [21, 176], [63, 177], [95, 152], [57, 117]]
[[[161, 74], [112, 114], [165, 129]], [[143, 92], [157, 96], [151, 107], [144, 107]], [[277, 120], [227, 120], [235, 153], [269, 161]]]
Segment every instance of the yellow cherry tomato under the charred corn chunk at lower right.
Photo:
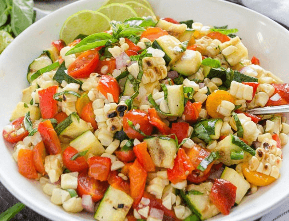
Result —
[[242, 165], [243, 175], [246, 177], [247, 181], [255, 186], [266, 186], [273, 183], [276, 179], [272, 176], [267, 176], [263, 173], [258, 173], [256, 171], [251, 171], [249, 169], [248, 163], [243, 163]]

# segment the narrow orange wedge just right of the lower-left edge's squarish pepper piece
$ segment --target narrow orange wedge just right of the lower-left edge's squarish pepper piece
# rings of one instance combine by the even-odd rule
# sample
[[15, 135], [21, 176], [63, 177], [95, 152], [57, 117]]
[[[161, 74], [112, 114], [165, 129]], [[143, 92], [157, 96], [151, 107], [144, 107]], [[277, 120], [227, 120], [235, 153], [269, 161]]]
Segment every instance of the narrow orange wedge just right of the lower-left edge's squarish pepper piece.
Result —
[[44, 169], [44, 160], [46, 156], [47, 153], [45, 150], [45, 146], [43, 141], [41, 141], [38, 144], [36, 144], [33, 148], [33, 162], [37, 172], [41, 173], [42, 175], [46, 173]]

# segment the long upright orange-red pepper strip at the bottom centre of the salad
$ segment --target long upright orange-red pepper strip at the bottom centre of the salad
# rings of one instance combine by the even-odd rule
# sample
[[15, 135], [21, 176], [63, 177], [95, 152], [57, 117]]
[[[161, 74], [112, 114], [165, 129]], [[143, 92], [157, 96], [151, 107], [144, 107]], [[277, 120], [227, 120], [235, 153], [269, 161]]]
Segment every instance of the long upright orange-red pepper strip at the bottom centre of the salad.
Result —
[[129, 167], [130, 196], [133, 198], [133, 206], [136, 206], [144, 194], [147, 172], [136, 159]]

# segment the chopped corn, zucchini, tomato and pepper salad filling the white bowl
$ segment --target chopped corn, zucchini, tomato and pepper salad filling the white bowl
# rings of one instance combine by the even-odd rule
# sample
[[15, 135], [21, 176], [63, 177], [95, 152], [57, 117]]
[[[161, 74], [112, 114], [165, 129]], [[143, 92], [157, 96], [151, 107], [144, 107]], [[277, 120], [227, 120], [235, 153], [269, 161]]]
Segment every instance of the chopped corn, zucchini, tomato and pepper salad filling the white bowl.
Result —
[[53, 204], [99, 221], [198, 221], [279, 178], [286, 118], [246, 110], [288, 104], [289, 84], [248, 58], [237, 29], [155, 16], [109, 26], [62, 29], [2, 132]]

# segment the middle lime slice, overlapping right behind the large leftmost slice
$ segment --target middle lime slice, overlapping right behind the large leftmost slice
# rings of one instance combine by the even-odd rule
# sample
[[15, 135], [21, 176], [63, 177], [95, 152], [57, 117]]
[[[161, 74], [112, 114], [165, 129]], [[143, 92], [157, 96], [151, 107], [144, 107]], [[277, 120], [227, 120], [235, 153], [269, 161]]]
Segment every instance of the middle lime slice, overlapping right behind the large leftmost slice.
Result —
[[125, 21], [125, 19], [137, 17], [137, 13], [132, 7], [120, 3], [102, 6], [97, 11], [105, 14], [110, 20], [114, 21]]

